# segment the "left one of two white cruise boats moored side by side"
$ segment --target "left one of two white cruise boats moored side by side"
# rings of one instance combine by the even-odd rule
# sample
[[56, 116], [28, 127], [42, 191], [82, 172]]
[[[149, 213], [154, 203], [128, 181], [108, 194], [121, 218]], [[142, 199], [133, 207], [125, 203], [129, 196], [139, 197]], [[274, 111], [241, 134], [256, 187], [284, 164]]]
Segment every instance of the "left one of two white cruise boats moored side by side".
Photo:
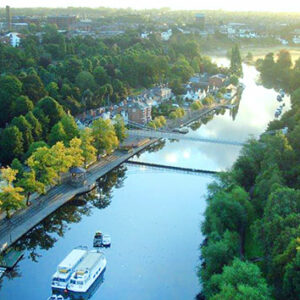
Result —
[[75, 268], [87, 256], [88, 250], [84, 247], [73, 249], [67, 257], [58, 265], [53, 274], [51, 287], [53, 289], [66, 289]]

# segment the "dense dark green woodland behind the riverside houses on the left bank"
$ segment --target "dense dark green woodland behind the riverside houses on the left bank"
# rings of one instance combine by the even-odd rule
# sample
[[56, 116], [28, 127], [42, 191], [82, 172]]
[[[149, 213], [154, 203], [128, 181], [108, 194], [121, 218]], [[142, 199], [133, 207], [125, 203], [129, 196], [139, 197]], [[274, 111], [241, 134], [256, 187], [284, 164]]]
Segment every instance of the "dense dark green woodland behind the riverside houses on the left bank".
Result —
[[200, 71], [218, 68], [180, 32], [168, 42], [136, 32], [102, 40], [68, 38], [47, 25], [41, 39], [33, 31], [18, 48], [0, 44], [0, 163], [24, 161], [32, 143], [67, 145], [79, 133], [66, 115], [117, 104], [157, 83], [181, 87]]

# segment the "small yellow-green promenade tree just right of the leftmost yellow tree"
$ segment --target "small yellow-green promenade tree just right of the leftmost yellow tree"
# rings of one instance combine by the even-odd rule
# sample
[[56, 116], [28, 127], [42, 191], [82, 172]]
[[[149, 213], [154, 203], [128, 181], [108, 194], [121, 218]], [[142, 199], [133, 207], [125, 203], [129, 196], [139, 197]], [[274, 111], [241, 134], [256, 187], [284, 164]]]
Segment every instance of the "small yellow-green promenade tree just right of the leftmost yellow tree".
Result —
[[46, 192], [45, 184], [39, 182], [36, 179], [36, 174], [34, 170], [30, 172], [25, 172], [23, 178], [21, 178], [17, 185], [21, 187], [26, 194], [26, 205], [30, 205], [31, 194], [38, 192], [39, 194], [44, 194]]

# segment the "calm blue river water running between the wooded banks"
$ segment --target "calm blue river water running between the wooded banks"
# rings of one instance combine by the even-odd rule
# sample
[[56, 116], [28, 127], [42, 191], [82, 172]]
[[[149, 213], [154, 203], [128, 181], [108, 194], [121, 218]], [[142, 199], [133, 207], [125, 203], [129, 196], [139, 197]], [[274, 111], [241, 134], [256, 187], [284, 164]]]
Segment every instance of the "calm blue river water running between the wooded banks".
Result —
[[[226, 59], [216, 59], [227, 64]], [[191, 136], [245, 141], [259, 136], [279, 103], [277, 93], [256, 85], [258, 73], [244, 66], [246, 88], [233, 111], [193, 124]], [[286, 109], [289, 99], [285, 98]], [[206, 170], [226, 170], [241, 147], [190, 141], [162, 141], [140, 154], [145, 162]], [[103, 300], [194, 299], [200, 232], [210, 175], [191, 175], [124, 164], [98, 182], [102, 198], [70, 202], [50, 215], [17, 246], [24, 258], [0, 281], [1, 300], [43, 300], [51, 295], [51, 276], [76, 246], [92, 247], [96, 230], [110, 234], [104, 249], [105, 273], [82, 298]], [[66, 296], [66, 299], [68, 297]]]

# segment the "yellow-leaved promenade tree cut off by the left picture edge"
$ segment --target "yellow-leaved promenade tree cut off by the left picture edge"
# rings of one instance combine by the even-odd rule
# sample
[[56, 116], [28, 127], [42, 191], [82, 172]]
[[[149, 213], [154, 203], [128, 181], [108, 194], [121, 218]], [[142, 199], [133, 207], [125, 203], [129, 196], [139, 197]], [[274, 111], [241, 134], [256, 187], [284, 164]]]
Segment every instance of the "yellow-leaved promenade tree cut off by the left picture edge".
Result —
[[17, 210], [23, 207], [24, 197], [21, 195], [23, 191], [20, 187], [13, 187], [12, 182], [16, 179], [18, 171], [11, 168], [2, 168], [1, 177], [6, 181], [6, 185], [1, 187], [0, 191], [0, 207], [6, 212], [7, 218], [10, 218], [11, 210]]

